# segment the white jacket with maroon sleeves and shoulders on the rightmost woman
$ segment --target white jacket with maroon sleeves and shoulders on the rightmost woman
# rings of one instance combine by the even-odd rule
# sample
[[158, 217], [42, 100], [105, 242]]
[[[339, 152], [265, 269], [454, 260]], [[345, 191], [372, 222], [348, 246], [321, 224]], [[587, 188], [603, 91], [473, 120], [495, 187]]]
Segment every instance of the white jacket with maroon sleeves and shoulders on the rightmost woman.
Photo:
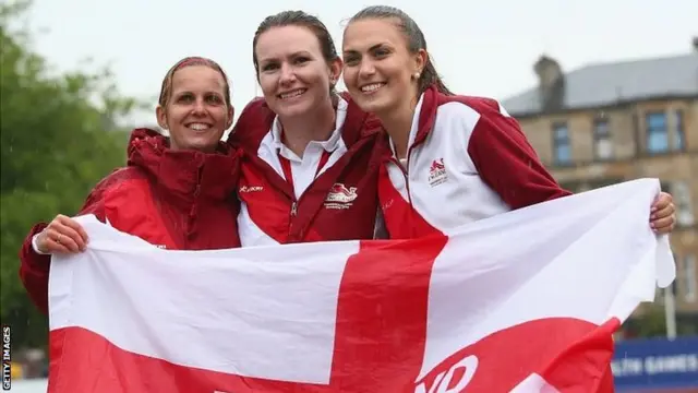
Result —
[[404, 165], [390, 147], [378, 195], [392, 239], [447, 234], [569, 194], [491, 98], [448, 96], [432, 86], [417, 105]]

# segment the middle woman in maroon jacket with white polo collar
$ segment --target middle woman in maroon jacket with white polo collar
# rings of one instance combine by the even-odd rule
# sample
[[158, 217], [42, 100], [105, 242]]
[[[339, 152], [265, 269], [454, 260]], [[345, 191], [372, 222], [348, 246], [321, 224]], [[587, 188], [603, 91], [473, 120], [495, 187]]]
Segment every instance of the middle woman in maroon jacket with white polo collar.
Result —
[[341, 60], [315, 16], [266, 17], [252, 40], [263, 99], [231, 132], [242, 146], [242, 246], [372, 239], [384, 138], [376, 122], [334, 91]]

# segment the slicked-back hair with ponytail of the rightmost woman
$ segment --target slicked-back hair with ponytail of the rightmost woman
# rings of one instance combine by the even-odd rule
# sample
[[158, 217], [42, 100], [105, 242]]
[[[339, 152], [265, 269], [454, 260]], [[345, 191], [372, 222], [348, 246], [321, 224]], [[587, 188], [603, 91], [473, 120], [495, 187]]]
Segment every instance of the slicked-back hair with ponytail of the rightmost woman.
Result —
[[[351, 24], [351, 22], [369, 19], [394, 20], [397, 27], [405, 35], [405, 38], [407, 40], [407, 49], [411, 53], [417, 53], [420, 49], [426, 50], [426, 39], [424, 39], [422, 29], [419, 28], [417, 22], [414, 22], [414, 20], [412, 20], [407, 13], [405, 13], [405, 11], [389, 5], [366, 7], [351, 16], [351, 19], [349, 20], [349, 24]], [[441, 80], [441, 76], [438, 76], [436, 68], [434, 67], [434, 62], [428, 55], [426, 64], [424, 64], [424, 69], [420, 73], [419, 80], [417, 81], [418, 94], [424, 93], [424, 91], [432, 84], [436, 85], [436, 88], [441, 93], [453, 95], [453, 93]]]

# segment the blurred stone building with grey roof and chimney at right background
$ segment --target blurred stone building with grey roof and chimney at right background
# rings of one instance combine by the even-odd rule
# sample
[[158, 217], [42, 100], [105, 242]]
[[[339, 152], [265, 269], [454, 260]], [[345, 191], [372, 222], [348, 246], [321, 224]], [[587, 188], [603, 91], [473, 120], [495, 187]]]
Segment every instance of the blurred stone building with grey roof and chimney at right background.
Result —
[[503, 105], [570, 191], [661, 179], [678, 210], [677, 319], [698, 326], [698, 39], [691, 44], [683, 55], [569, 72], [542, 56], [538, 86]]

